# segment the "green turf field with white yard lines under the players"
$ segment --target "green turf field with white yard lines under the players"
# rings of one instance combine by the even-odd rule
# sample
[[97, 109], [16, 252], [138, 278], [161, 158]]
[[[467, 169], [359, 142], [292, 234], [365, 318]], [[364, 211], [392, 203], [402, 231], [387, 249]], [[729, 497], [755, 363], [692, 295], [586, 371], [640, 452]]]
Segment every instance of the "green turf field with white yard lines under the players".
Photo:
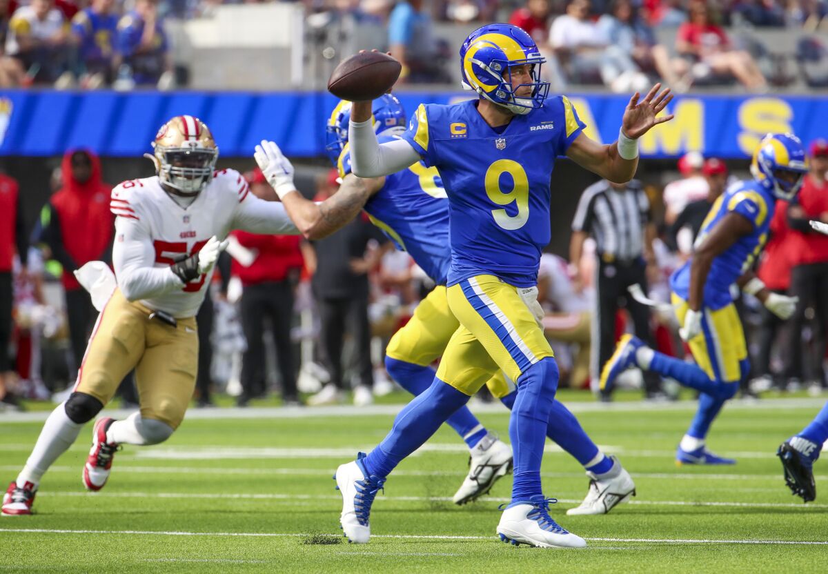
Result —
[[[378, 495], [371, 543], [344, 542], [331, 475], [382, 439], [393, 407], [371, 415], [306, 409], [306, 417], [276, 408], [192, 411], [165, 444], [125, 447], [99, 494], [85, 493], [80, 481], [90, 425], [42, 481], [36, 515], [0, 519], [0, 571], [824, 572], [828, 484], [818, 477], [816, 504], [803, 505], [783, 485], [773, 456], [824, 400], [726, 408], [710, 441], [718, 454], [739, 459], [724, 468], [673, 464], [690, 402], [659, 409], [575, 405], [587, 431], [619, 455], [638, 487], [632, 504], [609, 515], [567, 517], [587, 480], [550, 446], [543, 480], [546, 494], [559, 499], [552, 516], [587, 538], [584, 550], [500, 543], [497, 506], [511, 477], [477, 504], [451, 504], [467, 455], [446, 428]], [[505, 412], [484, 410], [481, 420], [507, 437]], [[202, 418], [211, 412], [222, 417]], [[0, 416], [3, 488], [40, 427]], [[817, 471], [828, 475], [820, 464]]]

